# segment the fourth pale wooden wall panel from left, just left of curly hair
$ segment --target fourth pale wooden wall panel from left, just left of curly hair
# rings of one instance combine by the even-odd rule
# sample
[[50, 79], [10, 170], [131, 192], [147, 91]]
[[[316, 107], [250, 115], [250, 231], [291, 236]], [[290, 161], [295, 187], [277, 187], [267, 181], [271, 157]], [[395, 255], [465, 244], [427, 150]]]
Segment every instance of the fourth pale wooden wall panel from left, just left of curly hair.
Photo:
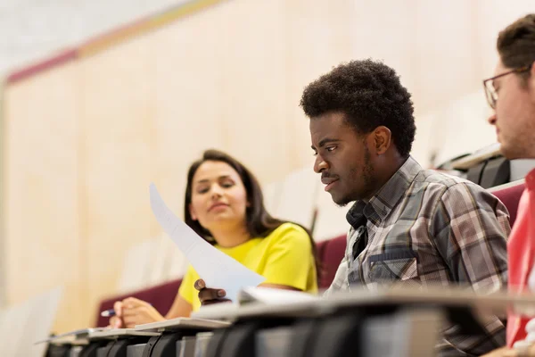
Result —
[[283, 4], [238, 0], [219, 7], [226, 147], [263, 182], [296, 165], [286, 111], [296, 104], [287, 96]]

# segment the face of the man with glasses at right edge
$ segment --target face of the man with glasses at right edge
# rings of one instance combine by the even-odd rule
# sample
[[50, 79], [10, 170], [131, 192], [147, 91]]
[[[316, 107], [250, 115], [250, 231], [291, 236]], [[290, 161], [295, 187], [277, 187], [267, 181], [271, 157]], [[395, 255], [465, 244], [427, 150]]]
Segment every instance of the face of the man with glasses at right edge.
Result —
[[[494, 76], [506, 73], [499, 61]], [[498, 93], [496, 110], [489, 118], [496, 127], [501, 152], [507, 159], [535, 157], [535, 79], [531, 74], [524, 81], [516, 73], [494, 79]]]

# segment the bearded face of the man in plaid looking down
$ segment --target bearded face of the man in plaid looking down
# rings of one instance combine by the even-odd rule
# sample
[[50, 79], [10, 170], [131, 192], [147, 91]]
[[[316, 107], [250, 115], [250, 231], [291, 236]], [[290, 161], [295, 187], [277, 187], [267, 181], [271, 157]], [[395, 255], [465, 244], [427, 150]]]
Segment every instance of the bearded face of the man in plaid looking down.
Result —
[[334, 203], [345, 205], [373, 195], [374, 169], [366, 135], [358, 134], [342, 112], [327, 112], [310, 119], [314, 170], [321, 173], [325, 191]]

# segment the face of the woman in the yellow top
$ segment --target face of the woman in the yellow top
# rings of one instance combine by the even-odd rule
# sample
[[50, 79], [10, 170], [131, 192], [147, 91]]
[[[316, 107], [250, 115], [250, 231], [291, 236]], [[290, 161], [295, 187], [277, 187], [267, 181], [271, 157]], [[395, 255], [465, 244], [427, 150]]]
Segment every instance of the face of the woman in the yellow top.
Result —
[[189, 210], [193, 220], [213, 231], [218, 228], [243, 228], [247, 192], [238, 173], [226, 162], [202, 162], [193, 175], [192, 202]]

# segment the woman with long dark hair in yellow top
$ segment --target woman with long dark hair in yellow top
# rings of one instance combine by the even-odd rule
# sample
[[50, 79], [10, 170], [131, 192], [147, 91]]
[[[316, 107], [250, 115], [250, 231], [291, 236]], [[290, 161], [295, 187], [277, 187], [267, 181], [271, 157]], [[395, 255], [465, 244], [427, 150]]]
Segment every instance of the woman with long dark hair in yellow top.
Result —
[[[266, 281], [261, 286], [317, 292], [316, 246], [300, 225], [278, 220], [264, 206], [258, 180], [241, 162], [208, 150], [187, 173], [185, 223], [210, 244]], [[135, 298], [115, 303], [111, 326], [189, 316], [201, 306], [193, 284], [202, 277], [189, 267], [165, 318]], [[199, 288], [197, 286], [197, 288]]]

